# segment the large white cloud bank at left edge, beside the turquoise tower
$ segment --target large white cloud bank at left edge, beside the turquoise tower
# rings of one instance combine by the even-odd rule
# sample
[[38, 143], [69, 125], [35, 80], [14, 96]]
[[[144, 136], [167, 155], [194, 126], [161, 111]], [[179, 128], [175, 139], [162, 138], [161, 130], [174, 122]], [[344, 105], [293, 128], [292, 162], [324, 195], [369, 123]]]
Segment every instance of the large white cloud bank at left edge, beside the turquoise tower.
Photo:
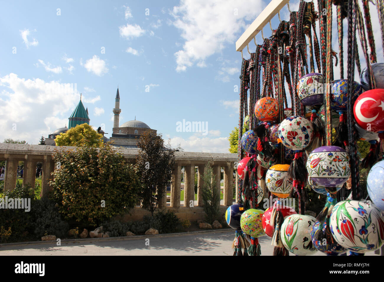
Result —
[[[0, 86], [0, 140], [13, 138], [37, 144], [42, 134], [48, 137], [68, 125], [68, 116], [80, 96], [70, 83], [19, 78], [14, 73], [1, 77]], [[12, 130], [14, 124], [16, 130]]]

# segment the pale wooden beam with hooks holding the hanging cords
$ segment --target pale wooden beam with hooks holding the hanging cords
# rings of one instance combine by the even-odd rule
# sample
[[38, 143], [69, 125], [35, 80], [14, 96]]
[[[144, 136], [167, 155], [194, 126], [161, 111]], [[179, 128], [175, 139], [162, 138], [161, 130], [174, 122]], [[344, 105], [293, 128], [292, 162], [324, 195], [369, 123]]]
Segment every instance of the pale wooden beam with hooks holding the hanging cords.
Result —
[[263, 27], [288, 3], [289, 0], [271, 0], [263, 12], [244, 31], [236, 41], [236, 51], [242, 51], [248, 43], [263, 29]]

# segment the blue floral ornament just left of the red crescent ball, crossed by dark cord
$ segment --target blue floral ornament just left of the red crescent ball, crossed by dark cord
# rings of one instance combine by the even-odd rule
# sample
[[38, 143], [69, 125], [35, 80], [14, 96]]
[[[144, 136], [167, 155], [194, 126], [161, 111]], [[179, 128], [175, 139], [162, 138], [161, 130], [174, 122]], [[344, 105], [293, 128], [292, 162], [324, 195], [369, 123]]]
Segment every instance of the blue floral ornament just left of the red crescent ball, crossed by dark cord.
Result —
[[[338, 79], [331, 82], [331, 107], [335, 112], [346, 112], [348, 104], [348, 80]], [[352, 102], [363, 92], [361, 85], [354, 81], [352, 86]]]

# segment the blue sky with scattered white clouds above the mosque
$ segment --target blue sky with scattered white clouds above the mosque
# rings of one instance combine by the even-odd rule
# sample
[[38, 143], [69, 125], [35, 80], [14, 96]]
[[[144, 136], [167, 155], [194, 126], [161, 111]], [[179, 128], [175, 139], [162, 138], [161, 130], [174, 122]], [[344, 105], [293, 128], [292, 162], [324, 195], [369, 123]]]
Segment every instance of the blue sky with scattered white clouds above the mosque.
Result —
[[[298, 1], [291, 2], [295, 9]], [[241, 55], [235, 41], [266, 4], [2, 1], [0, 140], [38, 143], [42, 134], [48, 137], [68, 125], [80, 92], [90, 124], [104, 125], [110, 137], [119, 86], [120, 125], [136, 115], [164, 139], [171, 138], [174, 147], [181, 143], [186, 151], [228, 152], [227, 137], [238, 123], [233, 89], [239, 84]], [[371, 15], [382, 50], [374, 7]], [[289, 19], [286, 8], [281, 17]], [[278, 26], [277, 16], [272, 26]], [[267, 25], [264, 35], [270, 32]], [[261, 35], [256, 39], [261, 43]], [[60, 90], [71, 83], [76, 91]], [[176, 123], [183, 119], [207, 123], [207, 134], [178, 132]]]

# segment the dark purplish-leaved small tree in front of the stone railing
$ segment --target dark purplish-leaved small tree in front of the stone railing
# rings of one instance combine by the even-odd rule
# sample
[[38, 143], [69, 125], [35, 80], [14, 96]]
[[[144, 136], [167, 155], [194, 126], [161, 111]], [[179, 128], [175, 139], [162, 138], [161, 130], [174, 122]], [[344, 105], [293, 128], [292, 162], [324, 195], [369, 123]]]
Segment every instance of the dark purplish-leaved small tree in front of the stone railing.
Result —
[[167, 184], [172, 178], [175, 165], [175, 151], [170, 142], [164, 145], [161, 134], [144, 132], [137, 141], [139, 153], [136, 156], [135, 170], [142, 183], [142, 205], [152, 216], [158, 201], [166, 193]]

